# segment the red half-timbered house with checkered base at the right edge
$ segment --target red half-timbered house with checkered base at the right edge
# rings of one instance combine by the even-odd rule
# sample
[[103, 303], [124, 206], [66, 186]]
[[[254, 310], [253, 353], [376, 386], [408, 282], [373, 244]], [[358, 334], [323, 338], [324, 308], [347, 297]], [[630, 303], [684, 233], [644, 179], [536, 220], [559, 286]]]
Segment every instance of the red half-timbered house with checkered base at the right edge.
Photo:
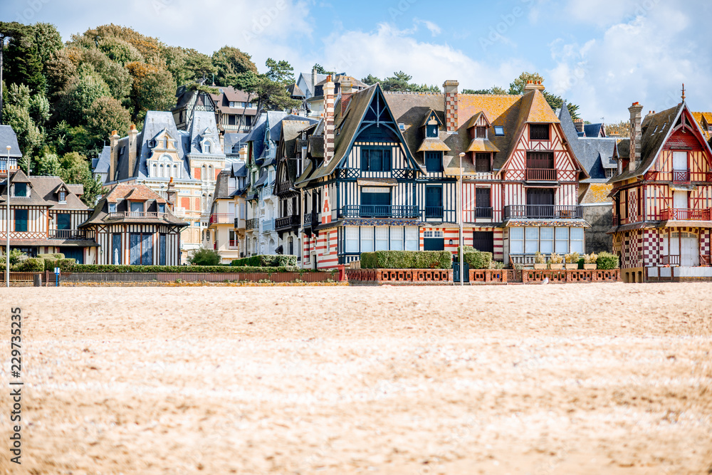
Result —
[[642, 109], [628, 109], [630, 137], [610, 180], [623, 279], [712, 278], [712, 150], [684, 96], [644, 119]]

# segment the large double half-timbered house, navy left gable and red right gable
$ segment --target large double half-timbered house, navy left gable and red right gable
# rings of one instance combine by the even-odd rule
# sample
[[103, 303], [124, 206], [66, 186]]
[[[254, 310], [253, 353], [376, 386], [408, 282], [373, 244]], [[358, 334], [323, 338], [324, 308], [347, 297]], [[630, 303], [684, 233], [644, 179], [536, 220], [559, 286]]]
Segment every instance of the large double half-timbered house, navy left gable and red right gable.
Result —
[[382, 249], [455, 252], [460, 212], [464, 244], [497, 260], [584, 251], [577, 198], [588, 175], [542, 85], [521, 96], [461, 95], [457, 81], [444, 94], [373, 85], [336, 98], [333, 83], [324, 88], [323, 132], [310, 137], [296, 183], [305, 265]]

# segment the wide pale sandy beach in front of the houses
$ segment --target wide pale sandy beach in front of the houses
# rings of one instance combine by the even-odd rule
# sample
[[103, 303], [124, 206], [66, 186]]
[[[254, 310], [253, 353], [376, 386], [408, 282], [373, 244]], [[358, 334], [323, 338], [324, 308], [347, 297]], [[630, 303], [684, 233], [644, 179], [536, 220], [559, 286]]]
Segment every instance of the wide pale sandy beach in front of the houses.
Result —
[[712, 470], [711, 283], [2, 288], [0, 302], [2, 474]]

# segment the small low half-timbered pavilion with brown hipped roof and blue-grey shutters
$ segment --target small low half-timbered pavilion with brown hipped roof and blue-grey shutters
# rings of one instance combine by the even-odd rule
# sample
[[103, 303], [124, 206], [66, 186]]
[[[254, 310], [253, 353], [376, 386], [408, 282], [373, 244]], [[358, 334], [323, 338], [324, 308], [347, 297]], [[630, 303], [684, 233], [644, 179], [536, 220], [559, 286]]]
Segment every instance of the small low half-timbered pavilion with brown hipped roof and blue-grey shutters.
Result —
[[79, 227], [95, 236], [99, 264], [178, 266], [185, 226], [147, 185], [115, 184]]

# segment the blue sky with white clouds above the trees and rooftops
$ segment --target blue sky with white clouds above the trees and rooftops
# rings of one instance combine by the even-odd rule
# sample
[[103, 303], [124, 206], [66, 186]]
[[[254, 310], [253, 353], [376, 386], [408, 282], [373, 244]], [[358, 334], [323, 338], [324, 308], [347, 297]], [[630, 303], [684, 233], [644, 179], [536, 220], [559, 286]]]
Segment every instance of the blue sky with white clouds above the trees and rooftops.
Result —
[[54, 24], [65, 41], [113, 23], [206, 54], [236, 46], [296, 76], [319, 63], [462, 90], [536, 71], [590, 122], [627, 120], [635, 101], [673, 107], [682, 83], [693, 110], [712, 110], [710, 0], [3, 0], [0, 19]]

